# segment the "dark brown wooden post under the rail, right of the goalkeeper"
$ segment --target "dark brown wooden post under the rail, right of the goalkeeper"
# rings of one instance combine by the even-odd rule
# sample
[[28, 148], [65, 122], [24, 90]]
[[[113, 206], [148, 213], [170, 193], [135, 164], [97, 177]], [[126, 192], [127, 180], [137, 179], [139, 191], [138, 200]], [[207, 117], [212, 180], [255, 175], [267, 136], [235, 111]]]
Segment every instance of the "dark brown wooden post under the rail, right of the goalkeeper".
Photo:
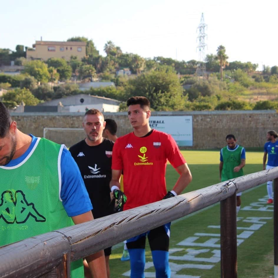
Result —
[[236, 278], [236, 191], [220, 202], [220, 223], [221, 278]]

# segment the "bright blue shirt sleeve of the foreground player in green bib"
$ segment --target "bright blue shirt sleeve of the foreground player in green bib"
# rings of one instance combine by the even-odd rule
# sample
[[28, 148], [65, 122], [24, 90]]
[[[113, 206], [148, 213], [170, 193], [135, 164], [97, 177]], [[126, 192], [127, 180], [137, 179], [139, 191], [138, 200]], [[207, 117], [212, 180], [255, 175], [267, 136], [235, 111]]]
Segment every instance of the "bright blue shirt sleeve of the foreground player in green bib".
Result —
[[61, 199], [67, 215], [77, 216], [92, 210], [88, 192], [79, 168], [66, 149], [61, 156]]

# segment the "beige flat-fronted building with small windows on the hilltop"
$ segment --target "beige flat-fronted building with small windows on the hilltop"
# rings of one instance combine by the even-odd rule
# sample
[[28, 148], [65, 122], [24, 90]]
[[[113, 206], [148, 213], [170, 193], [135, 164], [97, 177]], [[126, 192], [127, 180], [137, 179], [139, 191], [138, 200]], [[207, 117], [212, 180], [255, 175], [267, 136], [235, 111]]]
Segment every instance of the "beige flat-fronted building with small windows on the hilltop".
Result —
[[86, 56], [86, 42], [36, 41], [33, 49], [29, 48], [26, 51], [27, 61], [35, 59], [47, 61], [53, 57], [69, 61], [71, 56], [76, 56], [78, 60]]

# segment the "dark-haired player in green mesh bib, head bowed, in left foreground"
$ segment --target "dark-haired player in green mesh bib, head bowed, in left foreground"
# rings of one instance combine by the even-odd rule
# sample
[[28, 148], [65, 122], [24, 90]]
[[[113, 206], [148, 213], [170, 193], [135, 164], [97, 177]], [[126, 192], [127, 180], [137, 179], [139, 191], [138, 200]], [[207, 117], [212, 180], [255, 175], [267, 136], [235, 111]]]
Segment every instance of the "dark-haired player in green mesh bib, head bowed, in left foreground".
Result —
[[[22, 133], [2, 102], [0, 176], [1, 198], [7, 200], [1, 204], [0, 246], [93, 220], [92, 204], [67, 148]], [[87, 261], [94, 277], [107, 277], [103, 251]], [[82, 261], [72, 262], [71, 277], [83, 276]]]

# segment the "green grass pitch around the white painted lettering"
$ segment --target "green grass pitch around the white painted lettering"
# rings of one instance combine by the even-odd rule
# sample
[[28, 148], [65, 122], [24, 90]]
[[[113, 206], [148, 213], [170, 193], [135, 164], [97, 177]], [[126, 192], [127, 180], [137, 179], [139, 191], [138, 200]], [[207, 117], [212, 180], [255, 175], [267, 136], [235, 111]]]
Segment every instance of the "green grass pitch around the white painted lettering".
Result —
[[[193, 180], [183, 193], [193, 191], [199, 188], [210, 186], [219, 183], [219, 151], [182, 151], [188, 166], [191, 170]], [[244, 167], [244, 174], [254, 173], [262, 170], [263, 152], [248, 152], [246, 151], [246, 166]], [[171, 190], [178, 178], [178, 173], [171, 165], [167, 165], [166, 184], [167, 189]], [[248, 211], [242, 208], [250, 206], [252, 203], [259, 202], [258, 200], [267, 195], [266, 185], [257, 186], [249, 191], [245, 191], [241, 196], [241, 210], [239, 211], [239, 221], [237, 222], [237, 234], [241, 234], [245, 229], [249, 234], [248, 238], [237, 248], [238, 257], [238, 277], [241, 278], [266, 278], [273, 277], [273, 212], [271, 206], [269, 211]], [[264, 224], [259, 229], [252, 230], [253, 223], [245, 222], [248, 217], [264, 217], [259, 220]], [[245, 221], [244, 221], [245, 219]], [[188, 254], [190, 249], [198, 251], [204, 247], [196, 246], [181, 246], [178, 245], [181, 241], [196, 236], [196, 234], [208, 234], [196, 239], [196, 243], [203, 243], [209, 241], [211, 234], [220, 234], [220, 206], [219, 203], [210, 206], [206, 209], [198, 211], [193, 215], [188, 215], [182, 219], [172, 222], [171, 225], [171, 239], [170, 249], [176, 249], [171, 255], [184, 256]], [[214, 227], [214, 228], [212, 228]], [[210, 234], [210, 235], [209, 235]], [[219, 236], [220, 238], [220, 236]], [[239, 238], [239, 237], [238, 237]], [[220, 244], [220, 240], [217, 242]], [[208, 248], [220, 250], [220, 248]], [[123, 244], [118, 244], [113, 247], [112, 255], [110, 256], [110, 277], [119, 278], [127, 277], [122, 274], [130, 270], [129, 261], [121, 262], [120, 258], [123, 252]], [[211, 257], [211, 252], [197, 255], [199, 258]], [[171, 263], [180, 267], [171, 277], [202, 277], [215, 278], [220, 277], [220, 260], [216, 263], [209, 262], [192, 262], [186, 259], [170, 259]], [[152, 262], [151, 252], [146, 242], [146, 262]], [[196, 268], [192, 264], [199, 264], [201, 268]], [[173, 270], [173, 268], [171, 267]], [[154, 267], [147, 269], [145, 277], [152, 276], [150, 272], [154, 272]]]

